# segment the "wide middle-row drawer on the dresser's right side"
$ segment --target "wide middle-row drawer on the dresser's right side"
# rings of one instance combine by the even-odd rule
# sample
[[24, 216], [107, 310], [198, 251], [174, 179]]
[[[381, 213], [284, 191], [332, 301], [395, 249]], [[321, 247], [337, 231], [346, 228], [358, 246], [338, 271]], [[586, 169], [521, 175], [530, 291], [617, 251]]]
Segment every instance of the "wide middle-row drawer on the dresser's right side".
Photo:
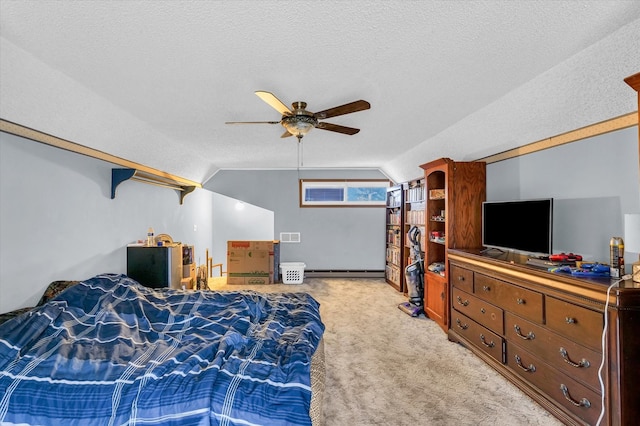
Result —
[[552, 367], [600, 391], [598, 368], [602, 362], [601, 352], [578, 345], [510, 312], [504, 313], [504, 329], [508, 341], [516, 343]]

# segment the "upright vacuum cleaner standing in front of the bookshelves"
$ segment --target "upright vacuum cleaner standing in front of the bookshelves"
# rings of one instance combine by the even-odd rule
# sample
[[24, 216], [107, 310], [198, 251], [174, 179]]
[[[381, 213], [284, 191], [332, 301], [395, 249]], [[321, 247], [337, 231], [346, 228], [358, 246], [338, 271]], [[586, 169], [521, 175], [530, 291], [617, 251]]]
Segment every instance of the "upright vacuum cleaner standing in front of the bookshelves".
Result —
[[407, 238], [411, 243], [411, 264], [405, 268], [404, 277], [409, 301], [399, 304], [398, 309], [407, 315], [417, 317], [424, 312], [424, 262], [422, 260], [422, 247], [420, 246], [420, 228], [415, 225], [412, 226], [407, 232]]

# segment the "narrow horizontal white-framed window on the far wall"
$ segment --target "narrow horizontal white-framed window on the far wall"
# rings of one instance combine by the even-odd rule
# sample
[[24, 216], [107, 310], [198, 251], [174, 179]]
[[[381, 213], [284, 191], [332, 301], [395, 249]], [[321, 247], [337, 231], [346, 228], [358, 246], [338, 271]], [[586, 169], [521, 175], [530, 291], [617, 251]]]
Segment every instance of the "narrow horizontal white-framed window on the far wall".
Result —
[[300, 207], [384, 206], [390, 184], [381, 179], [300, 179]]

